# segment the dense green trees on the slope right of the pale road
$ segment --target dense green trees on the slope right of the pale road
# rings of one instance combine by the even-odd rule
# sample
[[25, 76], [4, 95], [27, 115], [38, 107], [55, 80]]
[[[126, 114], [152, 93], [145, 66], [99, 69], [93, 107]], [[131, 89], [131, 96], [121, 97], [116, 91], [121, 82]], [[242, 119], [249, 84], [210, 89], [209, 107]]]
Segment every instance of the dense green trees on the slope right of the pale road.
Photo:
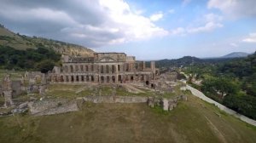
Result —
[[207, 96], [256, 119], [256, 52], [245, 59], [193, 66], [184, 71], [203, 80], [196, 87]]

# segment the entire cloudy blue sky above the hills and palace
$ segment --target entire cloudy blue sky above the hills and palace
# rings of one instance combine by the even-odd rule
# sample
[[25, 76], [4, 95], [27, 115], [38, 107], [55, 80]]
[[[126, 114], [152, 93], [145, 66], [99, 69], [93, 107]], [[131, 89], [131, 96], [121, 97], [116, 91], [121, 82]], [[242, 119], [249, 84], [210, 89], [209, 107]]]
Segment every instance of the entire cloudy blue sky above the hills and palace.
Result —
[[137, 60], [256, 50], [256, 0], [1, 0], [0, 23]]

